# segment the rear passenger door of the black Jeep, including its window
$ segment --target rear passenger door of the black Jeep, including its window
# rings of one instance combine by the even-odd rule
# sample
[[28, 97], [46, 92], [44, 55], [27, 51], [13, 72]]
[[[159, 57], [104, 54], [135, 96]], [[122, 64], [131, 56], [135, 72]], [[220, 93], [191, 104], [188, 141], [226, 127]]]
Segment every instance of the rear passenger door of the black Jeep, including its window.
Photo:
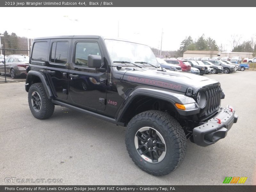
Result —
[[52, 84], [54, 95], [68, 99], [68, 66], [71, 39], [52, 39], [47, 76]]

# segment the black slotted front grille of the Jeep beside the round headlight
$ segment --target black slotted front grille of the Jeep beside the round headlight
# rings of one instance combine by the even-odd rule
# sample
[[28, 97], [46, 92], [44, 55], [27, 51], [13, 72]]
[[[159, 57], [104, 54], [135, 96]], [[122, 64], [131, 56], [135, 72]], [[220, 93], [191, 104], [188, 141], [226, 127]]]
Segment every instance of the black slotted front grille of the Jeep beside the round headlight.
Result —
[[201, 112], [201, 117], [207, 117], [212, 115], [220, 108], [220, 97], [221, 97], [221, 89], [220, 85], [205, 88], [202, 90], [206, 96], [206, 104], [204, 109]]

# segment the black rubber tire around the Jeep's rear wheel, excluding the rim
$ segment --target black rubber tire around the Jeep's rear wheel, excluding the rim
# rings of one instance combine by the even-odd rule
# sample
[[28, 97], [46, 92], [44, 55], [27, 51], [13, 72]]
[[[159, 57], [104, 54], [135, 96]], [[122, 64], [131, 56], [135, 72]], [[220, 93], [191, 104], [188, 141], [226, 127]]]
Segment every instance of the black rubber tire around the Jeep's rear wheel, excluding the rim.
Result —
[[[39, 111], [36, 111], [33, 108], [32, 100], [31, 100], [33, 92], [38, 93], [40, 96], [41, 107], [40, 107]], [[29, 104], [31, 113], [37, 119], [49, 118], [50, 116], [52, 116], [54, 107], [55, 107], [54, 104], [52, 103], [52, 101], [48, 99], [47, 93], [46, 93], [46, 91], [44, 89], [44, 85], [42, 83], [35, 83], [30, 86], [30, 88], [28, 90], [28, 104]]]

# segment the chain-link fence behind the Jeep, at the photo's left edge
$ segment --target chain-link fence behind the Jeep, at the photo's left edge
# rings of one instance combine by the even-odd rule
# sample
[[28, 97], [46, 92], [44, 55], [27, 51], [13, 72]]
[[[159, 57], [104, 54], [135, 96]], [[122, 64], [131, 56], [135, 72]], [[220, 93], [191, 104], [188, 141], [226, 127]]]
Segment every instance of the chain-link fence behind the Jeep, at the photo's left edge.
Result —
[[0, 50], [0, 83], [25, 81], [30, 50], [5, 49], [4, 47]]

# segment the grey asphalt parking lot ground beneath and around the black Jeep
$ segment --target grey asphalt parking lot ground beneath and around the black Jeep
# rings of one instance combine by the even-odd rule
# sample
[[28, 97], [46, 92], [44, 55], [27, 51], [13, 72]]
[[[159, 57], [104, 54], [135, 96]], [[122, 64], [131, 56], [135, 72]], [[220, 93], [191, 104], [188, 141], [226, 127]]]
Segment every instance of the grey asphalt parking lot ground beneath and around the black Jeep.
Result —
[[132, 162], [124, 127], [60, 106], [38, 120], [23, 82], [0, 84], [0, 185], [26, 184], [6, 183], [6, 177], [62, 179], [44, 183], [50, 185], [221, 185], [225, 177], [248, 177], [244, 185], [256, 185], [256, 72], [204, 76], [220, 81], [226, 94], [221, 106], [233, 106], [238, 122], [209, 147], [188, 140], [180, 167], [163, 177]]

